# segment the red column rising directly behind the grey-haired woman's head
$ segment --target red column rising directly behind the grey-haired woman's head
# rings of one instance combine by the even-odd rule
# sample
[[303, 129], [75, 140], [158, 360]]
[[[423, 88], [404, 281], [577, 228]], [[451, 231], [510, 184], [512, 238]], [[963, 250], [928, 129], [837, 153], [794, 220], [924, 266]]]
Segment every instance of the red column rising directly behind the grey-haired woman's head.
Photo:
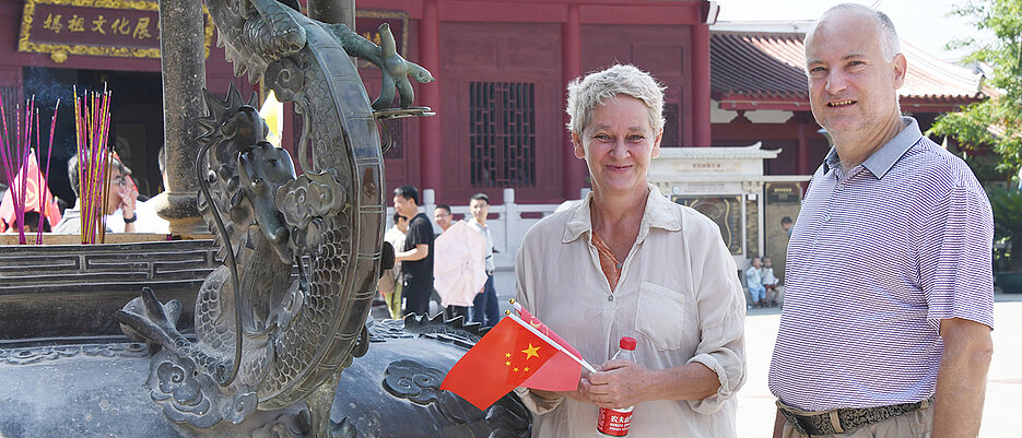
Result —
[[[565, 87], [567, 83], [583, 74], [582, 71], [582, 17], [578, 14], [578, 5], [569, 4], [567, 7], [567, 23], [561, 25], [561, 74]], [[562, 95], [566, 95], [563, 94]], [[562, 105], [564, 103], [562, 102]], [[563, 108], [563, 107], [562, 107]], [[564, 123], [571, 118], [564, 114]], [[586, 186], [586, 162], [575, 157], [575, 149], [572, 146], [572, 134], [564, 130], [564, 142], [561, 150], [562, 157], [562, 196], [565, 199], [578, 199], [582, 188]]]

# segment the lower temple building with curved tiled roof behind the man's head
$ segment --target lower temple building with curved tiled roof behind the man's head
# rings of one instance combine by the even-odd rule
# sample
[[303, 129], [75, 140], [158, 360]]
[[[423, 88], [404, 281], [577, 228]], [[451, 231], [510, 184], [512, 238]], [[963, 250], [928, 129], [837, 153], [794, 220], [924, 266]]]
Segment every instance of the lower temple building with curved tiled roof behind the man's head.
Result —
[[[713, 144], [782, 150], [767, 175], [812, 175], [830, 150], [809, 108], [803, 45], [811, 22], [721, 22], [710, 27]], [[902, 111], [925, 132], [943, 113], [985, 97], [982, 76], [902, 39]], [[940, 140], [938, 140], [940, 142]]]

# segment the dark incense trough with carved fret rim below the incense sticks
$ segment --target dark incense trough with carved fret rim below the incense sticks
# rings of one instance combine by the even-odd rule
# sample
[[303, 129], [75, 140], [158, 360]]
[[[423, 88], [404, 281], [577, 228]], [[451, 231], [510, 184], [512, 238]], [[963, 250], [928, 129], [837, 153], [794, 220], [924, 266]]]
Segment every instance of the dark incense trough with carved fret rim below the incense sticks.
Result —
[[178, 329], [187, 330], [196, 291], [221, 263], [216, 251], [212, 240], [0, 245], [0, 350], [16, 340], [119, 336], [114, 313], [142, 287], [180, 300]]

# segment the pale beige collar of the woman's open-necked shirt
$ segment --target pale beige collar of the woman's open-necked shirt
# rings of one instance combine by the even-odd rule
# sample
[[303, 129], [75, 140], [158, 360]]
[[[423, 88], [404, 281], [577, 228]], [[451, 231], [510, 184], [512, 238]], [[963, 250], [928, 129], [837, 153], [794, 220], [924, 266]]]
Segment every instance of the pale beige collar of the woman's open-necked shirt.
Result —
[[[646, 209], [643, 211], [643, 223], [639, 225], [636, 241], [643, 240], [649, 234], [649, 228], [662, 228], [669, 232], [681, 229], [681, 216], [673, 211], [674, 203], [660, 193], [660, 189], [656, 186], [647, 184], [647, 188], [649, 192], [646, 196]], [[590, 191], [578, 205], [573, 208], [571, 217], [564, 226], [562, 242], [567, 244], [586, 233], [591, 233], [592, 212], [589, 208], [591, 201], [592, 192]]]

